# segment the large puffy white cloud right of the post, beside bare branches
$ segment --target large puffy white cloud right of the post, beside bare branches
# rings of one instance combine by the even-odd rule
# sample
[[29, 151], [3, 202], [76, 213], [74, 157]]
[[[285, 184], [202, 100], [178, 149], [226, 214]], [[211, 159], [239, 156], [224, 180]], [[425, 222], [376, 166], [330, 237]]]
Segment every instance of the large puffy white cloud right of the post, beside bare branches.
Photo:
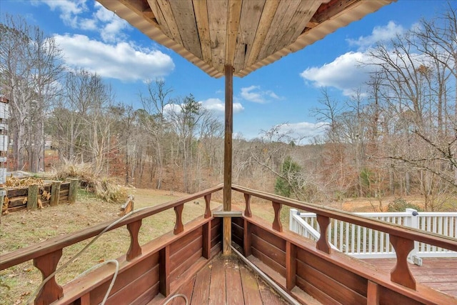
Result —
[[338, 56], [330, 64], [313, 66], [303, 71], [300, 76], [311, 81], [313, 86], [335, 87], [351, 96], [358, 87], [364, 86], [369, 79], [369, 72], [374, 66], [361, 66], [368, 61], [368, 55], [362, 52], [348, 52]]

